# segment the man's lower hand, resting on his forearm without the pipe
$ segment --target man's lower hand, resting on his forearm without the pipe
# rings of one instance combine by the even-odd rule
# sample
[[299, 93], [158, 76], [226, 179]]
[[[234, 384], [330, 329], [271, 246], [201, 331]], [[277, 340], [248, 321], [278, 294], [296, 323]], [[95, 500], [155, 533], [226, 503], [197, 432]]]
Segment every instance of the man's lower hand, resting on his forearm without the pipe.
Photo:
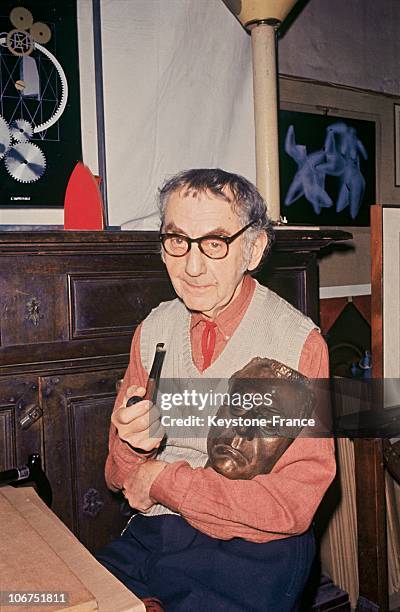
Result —
[[150, 488], [167, 465], [166, 461], [149, 459], [146, 463], [138, 463], [132, 467], [123, 483], [124, 496], [132, 508], [147, 512], [154, 506], [155, 502], [150, 498]]

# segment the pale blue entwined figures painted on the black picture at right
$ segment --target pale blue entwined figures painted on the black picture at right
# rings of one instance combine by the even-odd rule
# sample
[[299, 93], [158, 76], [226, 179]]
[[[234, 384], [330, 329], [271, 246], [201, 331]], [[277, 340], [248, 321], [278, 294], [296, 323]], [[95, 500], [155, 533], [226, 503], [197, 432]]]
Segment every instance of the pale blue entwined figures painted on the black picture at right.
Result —
[[285, 152], [297, 164], [297, 172], [285, 195], [286, 206], [304, 196], [317, 215], [322, 208], [330, 208], [333, 202], [325, 189], [325, 179], [332, 176], [338, 180], [336, 212], [349, 207], [350, 217], [357, 217], [366, 184], [360, 170], [360, 157], [367, 160], [368, 154], [354, 127], [344, 121], [331, 123], [326, 127], [322, 148], [307, 153], [305, 145], [296, 143], [295, 128], [290, 125]]

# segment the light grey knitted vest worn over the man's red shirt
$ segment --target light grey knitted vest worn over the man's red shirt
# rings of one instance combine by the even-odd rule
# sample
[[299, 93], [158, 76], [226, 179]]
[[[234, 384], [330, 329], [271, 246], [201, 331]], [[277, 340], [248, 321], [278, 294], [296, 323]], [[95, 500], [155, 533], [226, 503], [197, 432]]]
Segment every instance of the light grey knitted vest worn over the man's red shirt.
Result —
[[[163, 302], [153, 309], [142, 324], [140, 352], [143, 367], [149, 372], [158, 342], [164, 342], [165, 359], [162, 378], [224, 379], [243, 368], [253, 357], [269, 357], [298, 369], [304, 343], [316, 325], [276, 293], [256, 283], [252, 300], [222, 353], [204, 372], [192, 360], [190, 342], [191, 312], [181, 300]], [[167, 438], [158, 458], [189, 462], [192, 467], [206, 464], [207, 440]], [[156, 504], [147, 515], [169, 514], [168, 508]]]

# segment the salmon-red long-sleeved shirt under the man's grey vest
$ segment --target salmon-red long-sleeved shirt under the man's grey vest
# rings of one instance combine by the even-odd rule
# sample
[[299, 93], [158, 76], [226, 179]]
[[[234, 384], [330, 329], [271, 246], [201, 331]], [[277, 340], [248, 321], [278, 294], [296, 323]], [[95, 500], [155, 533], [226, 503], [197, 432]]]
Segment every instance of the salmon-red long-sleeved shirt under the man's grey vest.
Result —
[[[239, 295], [216, 317], [211, 363], [221, 354], [240, 323], [254, 289], [254, 280], [245, 276]], [[201, 340], [205, 321], [201, 314], [192, 315], [192, 357], [199, 371], [203, 371], [204, 364]], [[146, 386], [148, 374], [140, 357], [140, 331], [141, 325], [133, 337], [130, 363], [115, 407], [121, 406], [129, 386]], [[316, 329], [310, 332], [303, 346], [298, 369], [309, 378], [329, 376], [328, 350]], [[121, 489], [131, 466], [145, 460], [120, 440], [111, 425], [105, 470], [108, 486], [113, 490]], [[212, 469], [193, 469], [188, 462], [177, 461], [157, 476], [150, 496], [154, 502], [178, 512], [193, 527], [210, 536], [222, 540], [242, 537], [253, 542], [267, 542], [308, 529], [334, 478], [335, 469], [332, 439], [299, 437], [269, 474], [252, 480], [229, 480]]]

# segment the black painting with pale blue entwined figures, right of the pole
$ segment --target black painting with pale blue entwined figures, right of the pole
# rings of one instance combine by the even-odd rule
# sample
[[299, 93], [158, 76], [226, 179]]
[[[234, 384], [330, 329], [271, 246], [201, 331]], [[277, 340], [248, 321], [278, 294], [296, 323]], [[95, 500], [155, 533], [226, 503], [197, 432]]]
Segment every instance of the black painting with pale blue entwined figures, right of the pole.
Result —
[[368, 226], [375, 123], [280, 112], [281, 215], [292, 224]]

